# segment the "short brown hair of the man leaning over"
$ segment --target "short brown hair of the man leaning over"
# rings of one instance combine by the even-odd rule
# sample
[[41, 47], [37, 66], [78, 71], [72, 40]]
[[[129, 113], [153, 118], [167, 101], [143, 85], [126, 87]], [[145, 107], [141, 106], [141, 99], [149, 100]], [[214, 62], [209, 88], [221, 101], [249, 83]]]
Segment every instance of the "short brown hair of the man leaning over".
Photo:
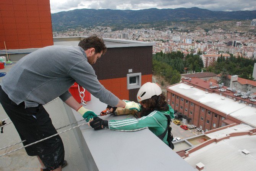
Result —
[[103, 41], [102, 38], [99, 38], [96, 34], [84, 38], [78, 43], [78, 46], [83, 48], [83, 50], [87, 50], [89, 48], [94, 48], [95, 53], [100, 53], [102, 51], [102, 54], [105, 54], [107, 51], [107, 47]]

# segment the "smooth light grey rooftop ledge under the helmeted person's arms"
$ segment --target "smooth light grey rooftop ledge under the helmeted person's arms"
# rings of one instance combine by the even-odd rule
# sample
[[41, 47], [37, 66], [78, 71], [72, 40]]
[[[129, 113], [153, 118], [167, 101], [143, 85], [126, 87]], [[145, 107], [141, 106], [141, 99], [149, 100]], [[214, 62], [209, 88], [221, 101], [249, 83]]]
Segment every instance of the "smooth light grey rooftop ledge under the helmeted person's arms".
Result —
[[[96, 100], [92, 96], [92, 101], [87, 102], [85, 107], [92, 109], [92, 105], [98, 104], [94, 112], [99, 113], [107, 105]], [[75, 110], [72, 109], [72, 112], [74, 115], [70, 113], [69, 116], [72, 122], [74, 119], [83, 119]], [[121, 120], [126, 117], [127, 115], [107, 115], [101, 118]], [[104, 129], [95, 131], [90, 126], [83, 125], [74, 131], [90, 171], [194, 171], [149, 129], [136, 132]]]

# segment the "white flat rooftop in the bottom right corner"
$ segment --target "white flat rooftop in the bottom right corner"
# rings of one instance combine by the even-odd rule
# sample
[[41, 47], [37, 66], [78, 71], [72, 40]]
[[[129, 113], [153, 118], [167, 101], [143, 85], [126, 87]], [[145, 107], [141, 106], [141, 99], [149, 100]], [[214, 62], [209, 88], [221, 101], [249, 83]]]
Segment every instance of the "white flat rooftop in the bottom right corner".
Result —
[[[191, 166], [201, 162], [204, 171], [249, 171], [256, 168], [256, 135], [236, 136], [211, 143], [193, 153], [184, 160]], [[248, 150], [244, 154], [242, 150]]]

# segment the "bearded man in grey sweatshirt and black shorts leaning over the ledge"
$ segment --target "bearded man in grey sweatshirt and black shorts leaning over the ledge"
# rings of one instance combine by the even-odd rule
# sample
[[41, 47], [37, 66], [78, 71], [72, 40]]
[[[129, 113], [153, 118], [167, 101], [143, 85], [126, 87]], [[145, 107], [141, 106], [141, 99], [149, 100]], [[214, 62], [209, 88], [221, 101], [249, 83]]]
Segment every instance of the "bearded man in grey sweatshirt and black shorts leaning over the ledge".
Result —
[[[78, 46], [47, 46], [20, 59], [2, 79], [0, 103], [15, 125], [23, 145], [56, 134], [49, 114], [42, 105], [60, 97], [86, 121], [95, 117], [69, 93], [73, 83], [87, 89], [93, 96], [110, 106], [137, 109], [135, 102], [121, 101], [104, 88], [92, 68], [107, 48], [97, 35], [81, 40]], [[64, 147], [60, 136], [25, 148], [30, 156], [37, 156], [42, 171], [61, 171]]]

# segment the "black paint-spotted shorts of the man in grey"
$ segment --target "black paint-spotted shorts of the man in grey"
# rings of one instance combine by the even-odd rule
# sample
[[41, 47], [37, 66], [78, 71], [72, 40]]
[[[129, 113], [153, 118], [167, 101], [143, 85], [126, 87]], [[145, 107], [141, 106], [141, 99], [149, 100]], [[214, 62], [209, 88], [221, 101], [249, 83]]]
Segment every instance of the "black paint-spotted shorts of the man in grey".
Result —
[[[57, 131], [44, 107], [25, 108], [24, 102], [17, 105], [11, 101], [0, 86], [0, 103], [17, 129], [23, 145], [44, 139]], [[59, 135], [25, 148], [29, 156], [39, 156], [47, 169], [56, 169], [64, 161], [64, 146]]]

